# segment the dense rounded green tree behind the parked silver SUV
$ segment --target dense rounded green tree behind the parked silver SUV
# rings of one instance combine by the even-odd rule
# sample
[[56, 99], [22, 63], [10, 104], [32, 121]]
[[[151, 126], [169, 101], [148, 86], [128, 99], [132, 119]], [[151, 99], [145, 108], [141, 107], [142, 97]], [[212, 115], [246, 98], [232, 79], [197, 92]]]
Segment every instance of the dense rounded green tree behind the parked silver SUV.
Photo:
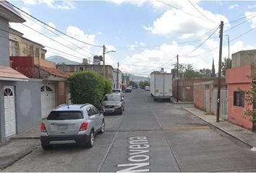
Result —
[[90, 103], [98, 107], [103, 95], [111, 92], [111, 81], [93, 71], [80, 71], [69, 78], [69, 91], [73, 104]]

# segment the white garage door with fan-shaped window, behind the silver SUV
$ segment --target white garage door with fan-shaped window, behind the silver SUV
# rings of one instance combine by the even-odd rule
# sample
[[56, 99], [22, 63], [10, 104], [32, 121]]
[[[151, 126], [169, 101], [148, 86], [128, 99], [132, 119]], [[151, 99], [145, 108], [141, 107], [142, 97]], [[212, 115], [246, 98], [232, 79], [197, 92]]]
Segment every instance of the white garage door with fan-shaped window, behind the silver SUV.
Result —
[[55, 107], [54, 85], [41, 86], [42, 118], [47, 117]]

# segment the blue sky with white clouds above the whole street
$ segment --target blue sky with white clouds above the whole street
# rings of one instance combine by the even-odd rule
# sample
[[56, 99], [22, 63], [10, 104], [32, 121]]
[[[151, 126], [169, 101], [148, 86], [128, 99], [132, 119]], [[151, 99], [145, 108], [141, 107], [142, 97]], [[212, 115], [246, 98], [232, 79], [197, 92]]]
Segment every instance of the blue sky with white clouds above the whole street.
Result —
[[106, 64], [117, 68], [119, 62], [123, 73], [138, 76], [148, 76], [162, 67], [170, 72], [176, 55], [179, 63], [190, 63], [197, 71], [211, 69], [213, 60], [218, 69], [221, 21], [223, 58], [229, 57], [229, 51], [231, 58], [240, 50], [256, 49], [256, 1], [9, 2], [22, 9], [17, 11], [27, 21], [11, 23], [11, 27], [46, 46], [46, 57], [63, 56], [77, 62], [87, 58], [91, 62], [93, 56], [103, 54], [106, 45], [106, 51], [111, 51], [106, 53]]

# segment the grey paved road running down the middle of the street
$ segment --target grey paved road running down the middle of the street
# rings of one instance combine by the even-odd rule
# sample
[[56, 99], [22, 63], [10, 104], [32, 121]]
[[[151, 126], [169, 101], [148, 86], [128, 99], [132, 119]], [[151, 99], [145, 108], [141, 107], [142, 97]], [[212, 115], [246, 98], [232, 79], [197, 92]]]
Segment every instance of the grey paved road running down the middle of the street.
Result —
[[125, 94], [123, 115], [106, 116], [93, 148], [40, 146], [4, 172], [256, 172], [256, 153], [182, 109]]

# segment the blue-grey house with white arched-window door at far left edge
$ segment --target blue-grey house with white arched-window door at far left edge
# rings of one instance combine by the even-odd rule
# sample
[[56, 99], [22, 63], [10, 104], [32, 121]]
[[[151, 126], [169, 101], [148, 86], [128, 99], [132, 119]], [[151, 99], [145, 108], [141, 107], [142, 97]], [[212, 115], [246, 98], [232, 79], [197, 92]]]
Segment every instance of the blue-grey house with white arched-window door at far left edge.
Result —
[[0, 143], [40, 122], [40, 83], [9, 67], [9, 22], [25, 19], [0, 1]]

